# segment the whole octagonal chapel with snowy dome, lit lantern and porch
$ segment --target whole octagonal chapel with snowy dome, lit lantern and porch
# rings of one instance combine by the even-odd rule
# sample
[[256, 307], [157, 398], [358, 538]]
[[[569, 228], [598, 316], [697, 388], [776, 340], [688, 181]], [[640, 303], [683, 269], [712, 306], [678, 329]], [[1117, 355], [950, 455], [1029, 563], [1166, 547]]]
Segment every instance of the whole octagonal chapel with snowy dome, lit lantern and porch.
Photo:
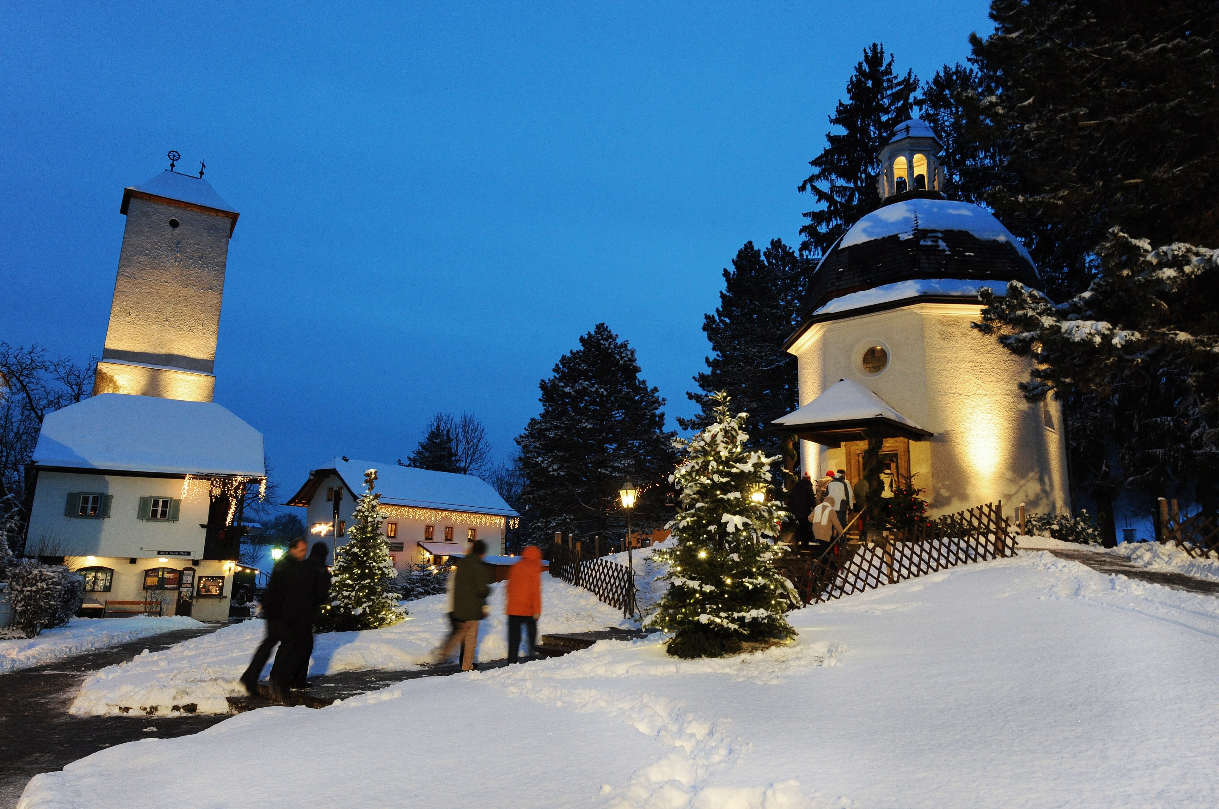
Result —
[[813, 273], [785, 345], [797, 357], [801, 407], [775, 426], [800, 436], [803, 472], [845, 469], [852, 482], [863, 430], [880, 430], [884, 485], [915, 475], [933, 514], [998, 500], [1069, 512], [1058, 404], [1025, 401], [1017, 385], [1029, 361], [970, 328], [979, 288], [1036, 289], [1036, 268], [989, 211], [942, 193], [940, 151], [918, 119], [880, 150], [880, 207]]

